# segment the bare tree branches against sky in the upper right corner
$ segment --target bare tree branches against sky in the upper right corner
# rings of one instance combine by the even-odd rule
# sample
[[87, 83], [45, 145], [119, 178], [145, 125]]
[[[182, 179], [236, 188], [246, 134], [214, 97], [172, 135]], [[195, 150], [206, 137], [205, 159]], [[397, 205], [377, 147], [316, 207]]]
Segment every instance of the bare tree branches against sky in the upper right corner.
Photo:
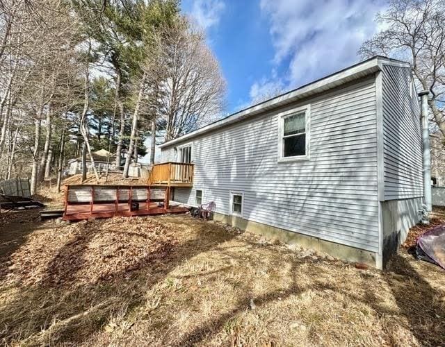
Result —
[[410, 60], [421, 88], [430, 91], [431, 121], [445, 135], [445, 1], [391, 0], [376, 20], [385, 30], [366, 40], [359, 54]]

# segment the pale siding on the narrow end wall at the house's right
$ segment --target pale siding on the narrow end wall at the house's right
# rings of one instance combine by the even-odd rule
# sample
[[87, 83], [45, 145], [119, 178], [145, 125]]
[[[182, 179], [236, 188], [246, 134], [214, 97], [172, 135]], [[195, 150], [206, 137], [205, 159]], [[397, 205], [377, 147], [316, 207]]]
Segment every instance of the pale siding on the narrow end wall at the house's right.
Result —
[[420, 108], [411, 69], [383, 66], [384, 199], [423, 196]]

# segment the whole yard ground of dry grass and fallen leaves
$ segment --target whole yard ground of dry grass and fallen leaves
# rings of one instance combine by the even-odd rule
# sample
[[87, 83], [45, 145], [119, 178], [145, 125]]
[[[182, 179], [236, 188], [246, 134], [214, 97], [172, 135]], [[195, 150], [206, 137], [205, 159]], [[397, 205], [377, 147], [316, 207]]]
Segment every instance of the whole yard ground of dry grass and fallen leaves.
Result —
[[359, 270], [189, 216], [0, 224], [0, 344], [444, 346], [445, 271]]

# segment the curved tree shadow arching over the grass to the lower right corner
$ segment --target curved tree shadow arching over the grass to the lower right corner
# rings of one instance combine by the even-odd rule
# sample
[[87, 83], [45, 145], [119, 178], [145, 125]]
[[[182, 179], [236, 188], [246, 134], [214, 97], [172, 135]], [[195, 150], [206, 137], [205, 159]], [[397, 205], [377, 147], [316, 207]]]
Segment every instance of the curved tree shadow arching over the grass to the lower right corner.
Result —
[[[296, 269], [300, 264], [302, 262], [294, 260], [291, 273], [296, 273]], [[249, 310], [250, 299], [253, 299], [255, 305], [261, 307], [276, 300], [286, 300], [289, 296], [300, 295], [308, 290], [338, 292], [353, 302], [368, 305], [376, 312], [376, 316], [380, 318], [388, 317], [388, 320], [385, 320], [385, 322], [394, 322], [394, 325], [402, 325], [411, 332], [421, 346], [444, 346], [445, 307], [444, 303], [440, 302], [444, 293], [433, 289], [425, 278], [417, 273], [410, 262], [401, 255], [394, 257], [389, 270], [391, 272], [382, 273], [382, 277], [387, 282], [391, 294], [394, 296], [394, 301], [397, 305], [394, 309], [381, 305], [380, 299], [372, 291], [375, 287], [371, 283], [369, 283], [364, 294], [360, 295], [346, 290], [338, 283], [330, 284], [321, 279], [314, 280], [310, 285], [302, 287], [298, 285], [298, 278], [293, 277], [292, 284], [288, 289], [271, 291], [263, 296], [249, 296], [248, 294], [251, 291], [250, 288], [246, 287], [243, 289], [245, 296], [238, 299], [232, 310], [198, 326], [192, 332], [182, 337], [175, 346], [193, 346], [202, 343], [212, 334], [220, 331], [225, 323], [234, 319], [235, 316], [245, 310]], [[365, 272], [362, 273], [362, 277], [364, 282], [375, 281], [374, 276], [366, 276]], [[398, 281], [398, 283], [394, 282], [394, 278], [396, 278], [395, 281]], [[405, 317], [407, 324], [404, 323], [401, 317]], [[389, 339], [391, 344], [400, 344], [400, 337], [392, 333], [391, 327], [385, 326], [383, 328], [387, 330], [385, 339]]]

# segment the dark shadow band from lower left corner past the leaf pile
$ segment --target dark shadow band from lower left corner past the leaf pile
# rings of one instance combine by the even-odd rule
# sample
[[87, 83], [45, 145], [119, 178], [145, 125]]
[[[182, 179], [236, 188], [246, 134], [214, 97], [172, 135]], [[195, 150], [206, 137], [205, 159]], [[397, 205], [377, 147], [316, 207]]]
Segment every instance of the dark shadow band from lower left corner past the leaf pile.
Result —
[[[181, 219], [168, 220], [172, 229], [176, 223], [181, 226]], [[188, 225], [194, 229], [193, 237], [175, 239], [175, 230], [171, 230], [171, 239], [161, 238], [154, 251], [136, 263], [81, 285], [76, 284], [76, 274], [86, 266], [86, 252], [95, 232], [80, 230], [58, 250], [37, 285], [15, 286], [9, 292], [6, 305], [0, 307], [0, 341], [31, 345], [86, 341], [111, 316], [145, 303], [147, 291], [177, 266], [236, 236], [201, 221], [188, 221]], [[122, 232], [118, 230], [117, 235]]]

